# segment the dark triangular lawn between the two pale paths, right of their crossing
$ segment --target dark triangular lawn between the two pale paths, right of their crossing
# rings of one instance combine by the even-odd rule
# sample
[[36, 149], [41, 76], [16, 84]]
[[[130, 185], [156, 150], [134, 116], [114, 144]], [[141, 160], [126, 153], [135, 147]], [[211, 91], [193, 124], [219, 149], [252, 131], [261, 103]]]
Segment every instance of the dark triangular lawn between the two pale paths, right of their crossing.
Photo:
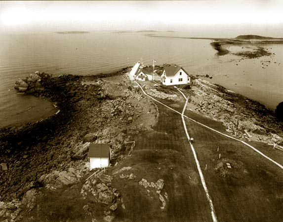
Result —
[[[189, 113], [185, 114], [190, 116]], [[193, 121], [186, 120], [186, 124], [190, 136], [195, 139], [194, 147], [218, 220], [281, 221], [282, 170], [240, 142], [210, 131]], [[226, 163], [230, 163], [232, 169], [228, 169]]]

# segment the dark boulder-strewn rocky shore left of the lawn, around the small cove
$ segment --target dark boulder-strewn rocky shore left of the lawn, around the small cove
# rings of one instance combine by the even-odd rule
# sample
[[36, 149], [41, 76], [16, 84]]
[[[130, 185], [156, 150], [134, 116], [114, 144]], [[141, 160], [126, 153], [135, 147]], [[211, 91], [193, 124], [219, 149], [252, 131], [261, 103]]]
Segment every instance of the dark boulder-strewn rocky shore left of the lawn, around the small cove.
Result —
[[[132, 87], [125, 75], [127, 71], [57, 77], [36, 73], [17, 81], [19, 89], [27, 86], [25, 94], [51, 100], [60, 112], [36, 123], [1, 129], [0, 163], [5, 163], [7, 170], [0, 169], [0, 212], [3, 213], [0, 221], [24, 221], [27, 215], [36, 212], [27, 214], [26, 207], [15, 205], [10, 209], [10, 203], [22, 203], [29, 195], [36, 196], [36, 200], [46, 195], [59, 198], [59, 190], [81, 183], [81, 178], [89, 174], [89, 161], [84, 154], [82, 158], [74, 156], [81, 152], [90, 136], [94, 143], [110, 145], [115, 164], [128, 152], [124, 142], [133, 140], [140, 130], [147, 130], [157, 122], [156, 105]], [[30, 190], [36, 190], [35, 195]], [[80, 190], [72, 195], [81, 198]], [[43, 202], [46, 201], [38, 203], [42, 215]], [[62, 202], [60, 209], [68, 207], [68, 201]], [[110, 220], [111, 215], [104, 217]], [[37, 219], [46, 221], [47, 216]]]

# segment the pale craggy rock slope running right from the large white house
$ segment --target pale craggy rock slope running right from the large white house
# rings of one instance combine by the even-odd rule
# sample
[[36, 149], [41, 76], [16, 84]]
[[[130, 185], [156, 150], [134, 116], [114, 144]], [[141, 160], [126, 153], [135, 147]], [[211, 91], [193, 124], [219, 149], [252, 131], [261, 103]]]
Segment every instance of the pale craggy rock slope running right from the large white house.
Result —
[[187, 109], [223, 123], [233, 136], [264, 143], [283, 142], [283, 125], [262, 104], [202, 79], [195, 79], [191, 90]]

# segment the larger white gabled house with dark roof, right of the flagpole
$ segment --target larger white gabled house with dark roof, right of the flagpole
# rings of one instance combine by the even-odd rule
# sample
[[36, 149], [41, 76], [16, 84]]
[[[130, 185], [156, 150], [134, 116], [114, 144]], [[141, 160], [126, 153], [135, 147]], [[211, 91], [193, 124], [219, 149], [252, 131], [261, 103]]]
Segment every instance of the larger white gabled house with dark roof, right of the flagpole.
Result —
[[182, 67], [171, 65], [164, 67], [161, 82], [163, 85], [190, 84], [191, 77]]

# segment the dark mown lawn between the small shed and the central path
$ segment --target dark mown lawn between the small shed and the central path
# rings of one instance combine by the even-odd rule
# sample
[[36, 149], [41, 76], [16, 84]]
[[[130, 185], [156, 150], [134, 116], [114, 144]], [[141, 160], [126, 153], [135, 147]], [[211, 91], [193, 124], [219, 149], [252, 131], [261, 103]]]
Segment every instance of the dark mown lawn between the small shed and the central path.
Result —
[[[125, 209], [117, 210], [118, 221], [128, 222], [205, 222], [211, 221], [209, 204], [202, 188], [193, 154], [183, 129], [181, 116], [158, 105], [158, 124], [151, 132], [140, 133], [135, 138], [136, 147], [130, 157], [119, 165], [132, 167], [114, 176], [113, 185], [121, 192]], [[116, 169], [115, 169], [116, 168]], [[117, 167], [113, 171], [118, 170]], [[118, 175], [130, 174], [134, 180], [121, 179]], [[138, 184], [164, 180], [168, 195], [166, 207], [155, 190], [148, 192]]]

